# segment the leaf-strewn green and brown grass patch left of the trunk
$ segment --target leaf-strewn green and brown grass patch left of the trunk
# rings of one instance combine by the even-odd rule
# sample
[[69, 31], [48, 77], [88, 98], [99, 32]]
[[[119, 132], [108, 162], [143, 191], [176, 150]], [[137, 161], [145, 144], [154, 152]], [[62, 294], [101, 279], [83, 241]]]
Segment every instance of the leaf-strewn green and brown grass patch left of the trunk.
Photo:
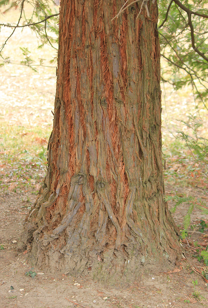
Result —
[[20, 193], [41, 182], [46, 173], [50, 130], [0, 125], [0, 192]]

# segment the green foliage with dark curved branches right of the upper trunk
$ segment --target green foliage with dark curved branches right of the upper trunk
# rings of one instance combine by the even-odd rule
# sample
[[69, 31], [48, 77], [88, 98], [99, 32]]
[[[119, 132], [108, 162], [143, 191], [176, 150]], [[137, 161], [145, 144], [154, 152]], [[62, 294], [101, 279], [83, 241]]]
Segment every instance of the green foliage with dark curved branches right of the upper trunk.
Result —
[[165, 62], [162, 80], [170, 82], [175, 89], [190, 84], [205, 106], [208, 95], [208, 19], [203, 15], [208, 15], [207, 3], [208, 0], [158, 2], [158, 31]]

